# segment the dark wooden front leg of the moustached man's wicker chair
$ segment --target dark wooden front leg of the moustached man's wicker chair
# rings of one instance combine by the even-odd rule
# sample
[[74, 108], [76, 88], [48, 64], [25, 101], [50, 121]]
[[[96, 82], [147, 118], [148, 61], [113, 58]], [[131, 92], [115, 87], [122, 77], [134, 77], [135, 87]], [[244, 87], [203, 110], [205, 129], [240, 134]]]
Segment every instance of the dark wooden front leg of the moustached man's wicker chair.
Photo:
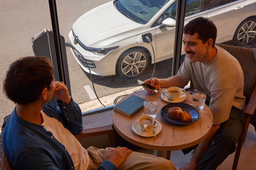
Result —
[[249, 123], [250, 123], [250, 118], [249, 117], [244, 117], [243, 130], [242, 130], [240, 138], [238, 139], [238, 144], [237, 144], [237, 148], [236, 148], [236, 154], [235, 154], [235, 159], [234, 159], [234, 162], [233, 162], [232, 170], [236, 170], [236, 168], [237, 168], [238, 160], [239, 160], [240, 153], [241, 153], [241, 150], [242, 150], [242, 145], [243, 145], [243, 142], [244, 142], [246, 127]]

